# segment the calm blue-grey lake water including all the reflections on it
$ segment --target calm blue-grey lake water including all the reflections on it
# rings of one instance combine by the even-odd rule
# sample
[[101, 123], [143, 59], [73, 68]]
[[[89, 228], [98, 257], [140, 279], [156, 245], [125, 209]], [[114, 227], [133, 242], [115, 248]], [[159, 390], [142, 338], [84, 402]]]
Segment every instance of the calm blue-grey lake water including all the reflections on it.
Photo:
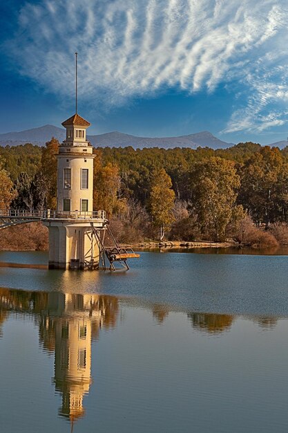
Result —
[[0, 431], [287, 432], [288, 256], [210, 252], [0, 268]]

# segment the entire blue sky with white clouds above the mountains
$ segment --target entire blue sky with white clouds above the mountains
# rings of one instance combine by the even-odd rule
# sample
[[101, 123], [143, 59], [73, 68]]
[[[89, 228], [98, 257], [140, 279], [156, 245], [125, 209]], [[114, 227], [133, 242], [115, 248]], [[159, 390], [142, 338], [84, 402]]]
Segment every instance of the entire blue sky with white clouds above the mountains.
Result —
[[0, 132], [61, 126], [261, 144], [288, 135], [285, 0], [9, 0]]

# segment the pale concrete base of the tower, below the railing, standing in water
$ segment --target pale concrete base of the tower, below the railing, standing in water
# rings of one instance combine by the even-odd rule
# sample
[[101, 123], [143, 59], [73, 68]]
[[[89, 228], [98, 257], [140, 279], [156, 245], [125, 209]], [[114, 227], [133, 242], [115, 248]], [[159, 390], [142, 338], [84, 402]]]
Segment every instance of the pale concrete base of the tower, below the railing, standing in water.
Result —
[[[99, 269], [99, 246], [90, 224], [46, 220], [44, 225], [49, 230], [49, 269]], [[101, 224], [97, 228], [104, 230]]]

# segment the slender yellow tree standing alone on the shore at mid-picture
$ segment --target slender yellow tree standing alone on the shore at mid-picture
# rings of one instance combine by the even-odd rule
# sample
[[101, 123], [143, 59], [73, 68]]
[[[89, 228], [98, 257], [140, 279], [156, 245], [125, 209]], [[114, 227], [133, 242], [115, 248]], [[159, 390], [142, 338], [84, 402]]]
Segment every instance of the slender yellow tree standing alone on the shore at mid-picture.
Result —
[[150, 211], [153, 225], [160, 228], [160, 241], [164, 238], [165, 230], [173, 222], [173, 205], [175, 192], [171, 189], [171, 177], [164, 168], [154, 172], [151, 181]]

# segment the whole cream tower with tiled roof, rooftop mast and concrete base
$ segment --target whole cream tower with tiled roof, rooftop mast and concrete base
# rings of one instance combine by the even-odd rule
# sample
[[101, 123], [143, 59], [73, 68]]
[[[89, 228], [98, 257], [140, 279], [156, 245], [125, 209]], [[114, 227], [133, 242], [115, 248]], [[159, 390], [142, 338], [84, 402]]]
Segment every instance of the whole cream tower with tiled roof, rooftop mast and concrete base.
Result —
[[93, 212], [93, 147], [86, 140], [90, 126], [77, 113], [65, 120], [66, 139], [57, 155], [57, 210], [51, 211], [44, 225], [49, 229], [49, 268], [97, 269], [99, 246], [94, 227], [103, 230], [104, 211]]

